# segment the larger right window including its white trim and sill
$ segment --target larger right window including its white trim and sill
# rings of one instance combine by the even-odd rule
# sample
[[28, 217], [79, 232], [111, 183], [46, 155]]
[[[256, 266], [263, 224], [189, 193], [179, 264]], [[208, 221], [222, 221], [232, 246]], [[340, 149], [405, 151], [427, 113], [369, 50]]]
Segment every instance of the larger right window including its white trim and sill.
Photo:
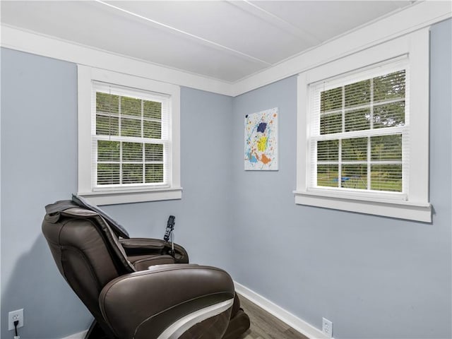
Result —
[[299, 75], [296, 203], [431, 221], [423, 33]]

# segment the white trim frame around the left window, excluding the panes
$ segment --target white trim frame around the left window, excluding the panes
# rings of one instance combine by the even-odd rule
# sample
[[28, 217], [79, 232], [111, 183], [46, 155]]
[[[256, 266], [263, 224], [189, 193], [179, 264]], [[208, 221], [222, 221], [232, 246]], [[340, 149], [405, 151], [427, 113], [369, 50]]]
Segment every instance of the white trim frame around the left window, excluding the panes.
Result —
[[[172, 140], [172, 173], [169, 187], [158, 189], [147, 186], [121, 187], [114, 191], [93, 189], [91, 178], [91, 91], [93, 81], [171, 96], [169, 133]], [[178, 85], [78, 65], [78, 194], [96, 205], [182, 198], [182, 187], [180, 186], [180, 88]]]

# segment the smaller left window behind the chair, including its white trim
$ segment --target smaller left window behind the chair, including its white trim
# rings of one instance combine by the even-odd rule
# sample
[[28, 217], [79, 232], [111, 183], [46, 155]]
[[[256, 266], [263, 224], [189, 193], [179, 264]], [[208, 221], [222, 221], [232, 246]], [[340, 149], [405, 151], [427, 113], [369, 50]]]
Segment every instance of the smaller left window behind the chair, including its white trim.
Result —
[[179, 88], [78, 66], [78, 194], [98, 205], [181, 197]]

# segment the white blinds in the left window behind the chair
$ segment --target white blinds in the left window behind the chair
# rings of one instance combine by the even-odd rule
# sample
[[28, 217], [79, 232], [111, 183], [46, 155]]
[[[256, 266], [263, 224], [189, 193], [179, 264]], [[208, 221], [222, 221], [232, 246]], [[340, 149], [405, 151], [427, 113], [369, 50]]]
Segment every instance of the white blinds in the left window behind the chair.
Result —
[[170, 185], [169, 95], [93, 81], [93, 189]]

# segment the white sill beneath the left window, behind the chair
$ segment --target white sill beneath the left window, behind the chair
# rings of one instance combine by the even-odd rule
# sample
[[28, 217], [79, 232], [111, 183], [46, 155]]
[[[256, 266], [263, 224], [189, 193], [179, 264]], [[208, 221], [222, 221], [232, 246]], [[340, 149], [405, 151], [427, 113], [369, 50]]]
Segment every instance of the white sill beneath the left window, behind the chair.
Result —
[[102, 191], [102, 192], [78, 192], [79, 196], [87, 199], [97, 206], [114, 205], [118, 203], [140, 203], [144, 201], [165, 201], [182, 198], [182, 187], [124, 191]]

